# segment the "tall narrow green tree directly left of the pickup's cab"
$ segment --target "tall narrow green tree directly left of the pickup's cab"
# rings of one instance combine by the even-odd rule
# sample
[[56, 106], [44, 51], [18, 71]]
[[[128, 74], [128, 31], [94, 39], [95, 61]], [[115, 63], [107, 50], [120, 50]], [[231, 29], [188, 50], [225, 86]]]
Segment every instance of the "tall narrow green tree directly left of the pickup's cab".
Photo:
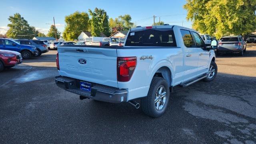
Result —
[[100, 36], [100, 32], [106, 36], [110, 35], [110, 28], [108, 25], [108, 15], [107, 12], [103, 9], [95, 8], [94, 11], [89, 9], [91, 16], [91, 33], [92, 36]]

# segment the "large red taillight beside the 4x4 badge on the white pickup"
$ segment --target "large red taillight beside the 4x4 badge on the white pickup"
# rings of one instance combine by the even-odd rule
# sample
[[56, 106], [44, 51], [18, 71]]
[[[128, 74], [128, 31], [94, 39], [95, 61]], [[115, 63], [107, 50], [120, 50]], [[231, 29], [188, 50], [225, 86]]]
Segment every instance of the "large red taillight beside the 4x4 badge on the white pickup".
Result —
[[137, 64], [136, 57], [118, 57], [117, 58], [117, 81], [128, 82], [135, 70]]

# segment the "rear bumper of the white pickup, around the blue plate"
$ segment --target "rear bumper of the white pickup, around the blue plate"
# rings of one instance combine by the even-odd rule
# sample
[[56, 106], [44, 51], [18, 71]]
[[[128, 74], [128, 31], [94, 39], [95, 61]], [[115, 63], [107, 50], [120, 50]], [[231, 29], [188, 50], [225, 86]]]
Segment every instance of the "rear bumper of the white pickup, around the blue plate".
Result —
[[91, 83], [91, 92], [86, 92], [80, 89], [80, 82], [85, 82], [83, 80], [77, 80], [73, 78], [56, 76], [55, 83], [60, 88], [84, 96], [86, 98], [91, 98], [94, 100], [99, 100], [103, 102], [120, 103], [127, 102], [128, 91], [125, 89], [112, 88], [108, 86], [103, 86], [100, 84]]

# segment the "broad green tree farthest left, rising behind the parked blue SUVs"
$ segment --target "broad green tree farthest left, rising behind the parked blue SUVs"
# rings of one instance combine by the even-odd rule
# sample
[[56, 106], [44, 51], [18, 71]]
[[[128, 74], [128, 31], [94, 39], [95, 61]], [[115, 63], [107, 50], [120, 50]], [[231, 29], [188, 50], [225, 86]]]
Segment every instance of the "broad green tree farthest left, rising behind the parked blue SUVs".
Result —
[[[8, 38], [28, 38], [32, 39], [38, 30], [34, 26], [30, 26], [19, 13], [14, 16], [9, 16], [8, 20], [11, 22], [7, 26], [9, 30], [6, 32]], [[22, 35], [22, 36], [21, 36]]]

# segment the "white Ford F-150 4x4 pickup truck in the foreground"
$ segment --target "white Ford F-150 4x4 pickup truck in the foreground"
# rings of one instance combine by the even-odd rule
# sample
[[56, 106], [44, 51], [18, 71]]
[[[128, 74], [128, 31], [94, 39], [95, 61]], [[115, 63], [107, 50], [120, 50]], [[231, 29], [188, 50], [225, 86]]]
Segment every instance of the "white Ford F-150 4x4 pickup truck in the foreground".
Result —
[[[181, 26], [132, 28], [124, 47], [59, 46], [56, 58], [61, 88], [104, 102], [141, 105], [148, 116], [164, 114], [172, 87], [217, 74], [214, 49], [195, 30]], [[140, 104], [135, 100], [140, 99]]]

